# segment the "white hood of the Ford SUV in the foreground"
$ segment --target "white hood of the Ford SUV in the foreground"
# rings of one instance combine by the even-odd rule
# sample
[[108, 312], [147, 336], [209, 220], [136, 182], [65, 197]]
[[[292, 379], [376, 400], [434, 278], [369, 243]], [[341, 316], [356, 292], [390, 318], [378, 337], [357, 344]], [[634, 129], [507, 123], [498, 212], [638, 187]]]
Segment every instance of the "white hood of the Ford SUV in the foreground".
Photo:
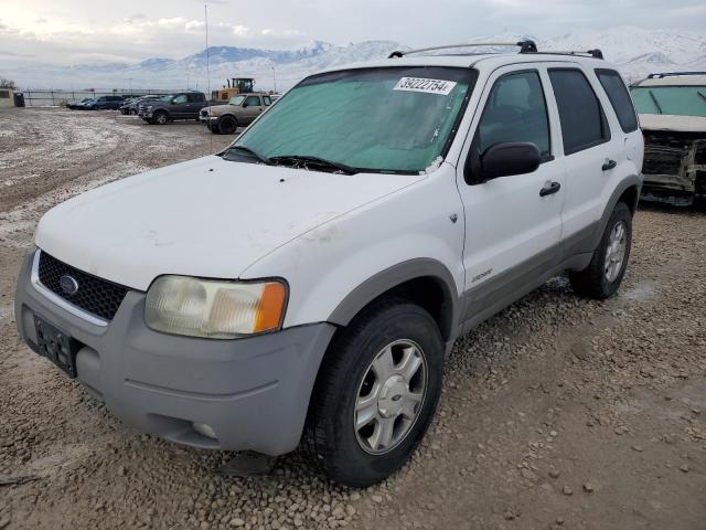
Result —
[[146, 290], [154, 277], [237, 278], [258, 258], [424, 176], [353, 176], [208, 156], [75, 197], [41, 219], [36, 245]]

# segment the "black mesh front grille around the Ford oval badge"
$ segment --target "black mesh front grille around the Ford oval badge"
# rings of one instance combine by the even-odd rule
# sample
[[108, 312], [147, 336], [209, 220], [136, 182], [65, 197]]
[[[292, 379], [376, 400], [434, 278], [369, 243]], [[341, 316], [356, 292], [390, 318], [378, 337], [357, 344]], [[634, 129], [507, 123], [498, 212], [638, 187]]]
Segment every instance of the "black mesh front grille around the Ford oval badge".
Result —
[[[73, 295], [62, 289], [61, 277], [65, 275], [72, 276], [78, 284], [78, 290]], [[52, 293], [104, 320], [115, 317], [128, 293], [128, 288], [122, 285], [78, 271], [45, 252], [40, 254], [39, 279]]]

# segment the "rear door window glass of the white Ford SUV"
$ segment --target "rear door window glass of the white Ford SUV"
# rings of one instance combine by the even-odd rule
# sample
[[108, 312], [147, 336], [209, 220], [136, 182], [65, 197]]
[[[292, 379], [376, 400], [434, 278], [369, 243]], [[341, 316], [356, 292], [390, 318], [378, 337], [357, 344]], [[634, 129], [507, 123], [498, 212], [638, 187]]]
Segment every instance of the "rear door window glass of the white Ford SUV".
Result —
[[606, 115], [580, 70], [550, 68], [549, 80], [559, 109], [564, 153], [598, 146], [610, 139]]

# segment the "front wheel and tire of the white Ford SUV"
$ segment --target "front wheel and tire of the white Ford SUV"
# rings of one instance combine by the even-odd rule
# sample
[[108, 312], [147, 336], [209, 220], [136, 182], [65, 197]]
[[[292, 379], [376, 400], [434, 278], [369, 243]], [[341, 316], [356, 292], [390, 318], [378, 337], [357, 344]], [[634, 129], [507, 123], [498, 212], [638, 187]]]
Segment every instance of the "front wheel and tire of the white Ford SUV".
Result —
[[439, 328], [404, 299], [377, 303], [322, 363], [303, 448], [339, 484], [367, 487], [400, 468], [434, 417], [443, 374]]

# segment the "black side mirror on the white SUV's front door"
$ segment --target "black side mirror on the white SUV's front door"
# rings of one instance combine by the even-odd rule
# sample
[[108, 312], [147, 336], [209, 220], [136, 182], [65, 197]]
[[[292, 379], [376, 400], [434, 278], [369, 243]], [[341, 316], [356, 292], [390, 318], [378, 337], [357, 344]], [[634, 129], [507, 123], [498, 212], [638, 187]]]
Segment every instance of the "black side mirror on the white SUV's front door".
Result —
[[528, 141], [490, 146], [480, 157], [480, 181], [532, 173], [539, 167], [539, 148]]

